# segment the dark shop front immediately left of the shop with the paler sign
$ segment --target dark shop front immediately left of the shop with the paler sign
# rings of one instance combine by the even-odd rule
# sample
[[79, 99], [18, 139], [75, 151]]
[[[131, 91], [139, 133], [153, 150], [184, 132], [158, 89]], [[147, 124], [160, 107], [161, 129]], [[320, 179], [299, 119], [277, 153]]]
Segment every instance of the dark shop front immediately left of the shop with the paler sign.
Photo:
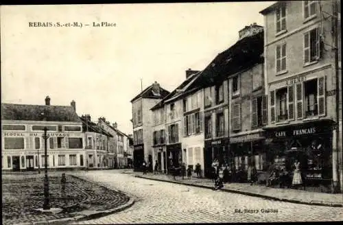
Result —
[[217, 160], [219, 165], [230, 164], [230, 141], [228, 138], [205, 141], [204, 176], [211, 178], [211, 165]]

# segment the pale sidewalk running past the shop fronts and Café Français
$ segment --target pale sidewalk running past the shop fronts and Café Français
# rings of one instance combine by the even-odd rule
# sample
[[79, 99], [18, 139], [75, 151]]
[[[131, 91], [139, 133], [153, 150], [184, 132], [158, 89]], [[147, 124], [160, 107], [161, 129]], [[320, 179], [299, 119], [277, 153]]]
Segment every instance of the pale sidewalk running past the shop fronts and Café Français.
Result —
[[[183, 185], [190, 185], [194, 187], [203, 187], [213, 189], [213, 182], [209, 179], [191, 178], [182, 180], [180, 176], [176, 177], [176, 181], [172, 180], [172, 176], [165, 174], [146, 174], [134, 172], [134, 176], [139, 178], [146, 178], [150, 180], [159, 180], [164, 182], [173, 182]], [[265, 187], [261, 185], [250, 185], [248, 183], [228, 183], [224, 185], [222, 191], [231, 193], [244, 194], [246, 196], [255, 196], [259, 198], [265, 198], [269, 200], [279, 200], [284, 202], [293, 202], [300, 204], [314, 204], [319, 206], [335, 206], [343, 207], [343, 195], [342, 193], [320, 193], [313, 191], [303, 191], [296, 189], [281, 189]]]

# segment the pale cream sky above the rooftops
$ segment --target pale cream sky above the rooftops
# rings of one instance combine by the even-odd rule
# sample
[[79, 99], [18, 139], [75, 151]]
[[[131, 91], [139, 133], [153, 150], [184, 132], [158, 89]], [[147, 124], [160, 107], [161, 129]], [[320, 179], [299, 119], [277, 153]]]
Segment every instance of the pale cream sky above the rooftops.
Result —
[[[2, 5], [1, 102], [67, 106], [132, 134], [130, 100], [154, 81], [173, 91], [263, 25], [273, 1], [110, 5]], [[30, 27], [78, 22], [82, 27]], [[93, 27], [93, 23], [115, 27]], [[85, 24], [88, 24], [86, 26]]]

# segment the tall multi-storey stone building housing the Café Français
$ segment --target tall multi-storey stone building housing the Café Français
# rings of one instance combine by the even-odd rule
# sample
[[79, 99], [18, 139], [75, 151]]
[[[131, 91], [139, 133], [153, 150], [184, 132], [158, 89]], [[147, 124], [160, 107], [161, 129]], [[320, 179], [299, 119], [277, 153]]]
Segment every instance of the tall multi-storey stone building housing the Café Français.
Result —
[[274, 162], [292, 156], [284, 164], [300, 161], [308, 185], [342, 190], [340, 1], [278, 1], [261, 14]]

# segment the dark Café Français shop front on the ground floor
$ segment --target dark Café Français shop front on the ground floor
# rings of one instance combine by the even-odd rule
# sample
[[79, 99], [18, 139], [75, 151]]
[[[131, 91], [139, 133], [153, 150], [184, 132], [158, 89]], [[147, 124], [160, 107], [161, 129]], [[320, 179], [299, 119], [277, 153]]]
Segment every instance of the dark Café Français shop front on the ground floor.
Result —
[[[267, 160], [276, 168], [294, 171], [300, 163], [303, 185], [329, 192], [332, 181], [332, 128], [334, 121], [323, 119], [277, 128], [264, 128], [268, 137]], [[318, 189], [320, 187], [320, 189]], [[325, 188], [323, 188], [325, 187]]]

